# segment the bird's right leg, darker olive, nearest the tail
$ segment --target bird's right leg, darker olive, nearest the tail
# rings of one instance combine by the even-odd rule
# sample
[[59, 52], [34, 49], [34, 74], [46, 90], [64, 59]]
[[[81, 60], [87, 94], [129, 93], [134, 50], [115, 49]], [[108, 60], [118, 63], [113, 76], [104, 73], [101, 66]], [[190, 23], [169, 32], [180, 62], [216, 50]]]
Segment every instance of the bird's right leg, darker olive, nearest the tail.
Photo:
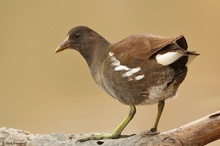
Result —
[[158, 123], [159, 123], [161, 114], [162, 114], [162, 112], [163, 112], [164, 105], [165, 105], [165, 101], [164, 101], [164, 100], [159, 101], [159, 103], [158, 103], [157, 118], [156, 118], [156, 121], [155, 121], [155, 123], [154, 123], [153, 128], [150, 129], [149, 134], [158, 134], [158, 133], [159, 133], [159, 132], [157, 132], [157, 126], [158, 126]]

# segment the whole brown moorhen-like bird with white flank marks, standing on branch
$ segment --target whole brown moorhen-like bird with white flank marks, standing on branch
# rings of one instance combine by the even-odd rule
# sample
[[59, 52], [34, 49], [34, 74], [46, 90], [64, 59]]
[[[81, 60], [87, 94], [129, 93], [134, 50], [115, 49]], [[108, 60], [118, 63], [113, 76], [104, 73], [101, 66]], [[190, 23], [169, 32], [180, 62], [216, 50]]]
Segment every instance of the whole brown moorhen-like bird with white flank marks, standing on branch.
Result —
[[122, 135], [122, 131], [134, 117], [138, 105], [158, 104], [155, 123], [148, 131], [148, 134], [158, 134], [165, 100], [176, 96], [186, 77], [188, 64], [199, 55], [187, 48], [183, 35], [136, 34], [110, 43], [88, 26], [70, 29], [55, 53], [66, 49], [78, 51], [98, 86], [130, 107], [128, 116], [112, 134], [94, 134], [78, 141], [131, 136]]

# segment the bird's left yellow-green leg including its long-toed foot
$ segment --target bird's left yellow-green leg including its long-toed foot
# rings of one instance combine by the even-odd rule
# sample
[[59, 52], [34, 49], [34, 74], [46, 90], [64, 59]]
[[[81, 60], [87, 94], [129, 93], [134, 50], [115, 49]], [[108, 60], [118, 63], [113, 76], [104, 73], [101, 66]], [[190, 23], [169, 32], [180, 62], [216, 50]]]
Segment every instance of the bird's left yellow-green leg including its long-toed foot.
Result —
[[112, 134], [94, 134], [91, 135], [90, 137], [86, 137], [83, 139], [77, 140], [77, 142], [84, 142], [88, 140], [101, 140], [101, 139], [117, 139], [117, 138], [123, 138], [123, 137], [129, 137], [132, 135], [121, 135], [122, 131], [124, 128], [128, 125], [128, 123], [132, 120], [136, 113], [136, 108], [135, 106], [131, 105], [130, 106], [130, 111], [128, 116], [124, 119], [124, 121], [113, 131]]

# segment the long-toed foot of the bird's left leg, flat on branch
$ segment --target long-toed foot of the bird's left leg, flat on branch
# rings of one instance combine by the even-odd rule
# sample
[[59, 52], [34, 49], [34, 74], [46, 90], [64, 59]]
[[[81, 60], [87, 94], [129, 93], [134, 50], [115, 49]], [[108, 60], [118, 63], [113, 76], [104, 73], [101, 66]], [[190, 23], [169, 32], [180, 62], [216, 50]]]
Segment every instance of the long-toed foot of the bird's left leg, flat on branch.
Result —
[[126, 137], [130, 137], [133, 136], [135, 134], [132, 135], [116, 135], [116, 134], [108, 134], [108, 133], [95, 133], [90, 135], [89, 137], [85, 137], [82, 139], [79, 139], [76, 141], [77, 142], [85, 142], [88, 140], [102, 140], [102, 139], [118, 139], [118, 138], [126, 138]]

